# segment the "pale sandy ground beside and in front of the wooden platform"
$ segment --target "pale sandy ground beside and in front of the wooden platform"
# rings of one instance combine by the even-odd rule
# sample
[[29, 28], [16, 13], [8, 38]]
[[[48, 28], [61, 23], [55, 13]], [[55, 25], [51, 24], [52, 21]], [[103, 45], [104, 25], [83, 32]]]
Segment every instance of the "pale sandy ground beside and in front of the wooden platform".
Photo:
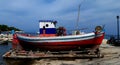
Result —
[[75, 60], [35, 60], [33, 65], [120, 65], [120, 47], [108, 44], [100, 46], [103, 58], [75, 59]]

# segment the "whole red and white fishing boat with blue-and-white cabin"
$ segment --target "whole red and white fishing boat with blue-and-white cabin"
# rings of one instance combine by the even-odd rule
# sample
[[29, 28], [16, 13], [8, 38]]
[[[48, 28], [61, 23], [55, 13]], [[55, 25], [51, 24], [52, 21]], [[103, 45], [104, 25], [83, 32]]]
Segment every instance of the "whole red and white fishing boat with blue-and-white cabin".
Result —
[[57, 21], [39, 20], [39, 35], [14, 34], [13, 48], [21, 46], [22, 49], [63, 51], [76, 50], [78, 48], [93, 48], [99, 46], [104, 38], [101, 26], [97, 26], [94, 32], [67, 35], [64, 27], [56, 27]]

